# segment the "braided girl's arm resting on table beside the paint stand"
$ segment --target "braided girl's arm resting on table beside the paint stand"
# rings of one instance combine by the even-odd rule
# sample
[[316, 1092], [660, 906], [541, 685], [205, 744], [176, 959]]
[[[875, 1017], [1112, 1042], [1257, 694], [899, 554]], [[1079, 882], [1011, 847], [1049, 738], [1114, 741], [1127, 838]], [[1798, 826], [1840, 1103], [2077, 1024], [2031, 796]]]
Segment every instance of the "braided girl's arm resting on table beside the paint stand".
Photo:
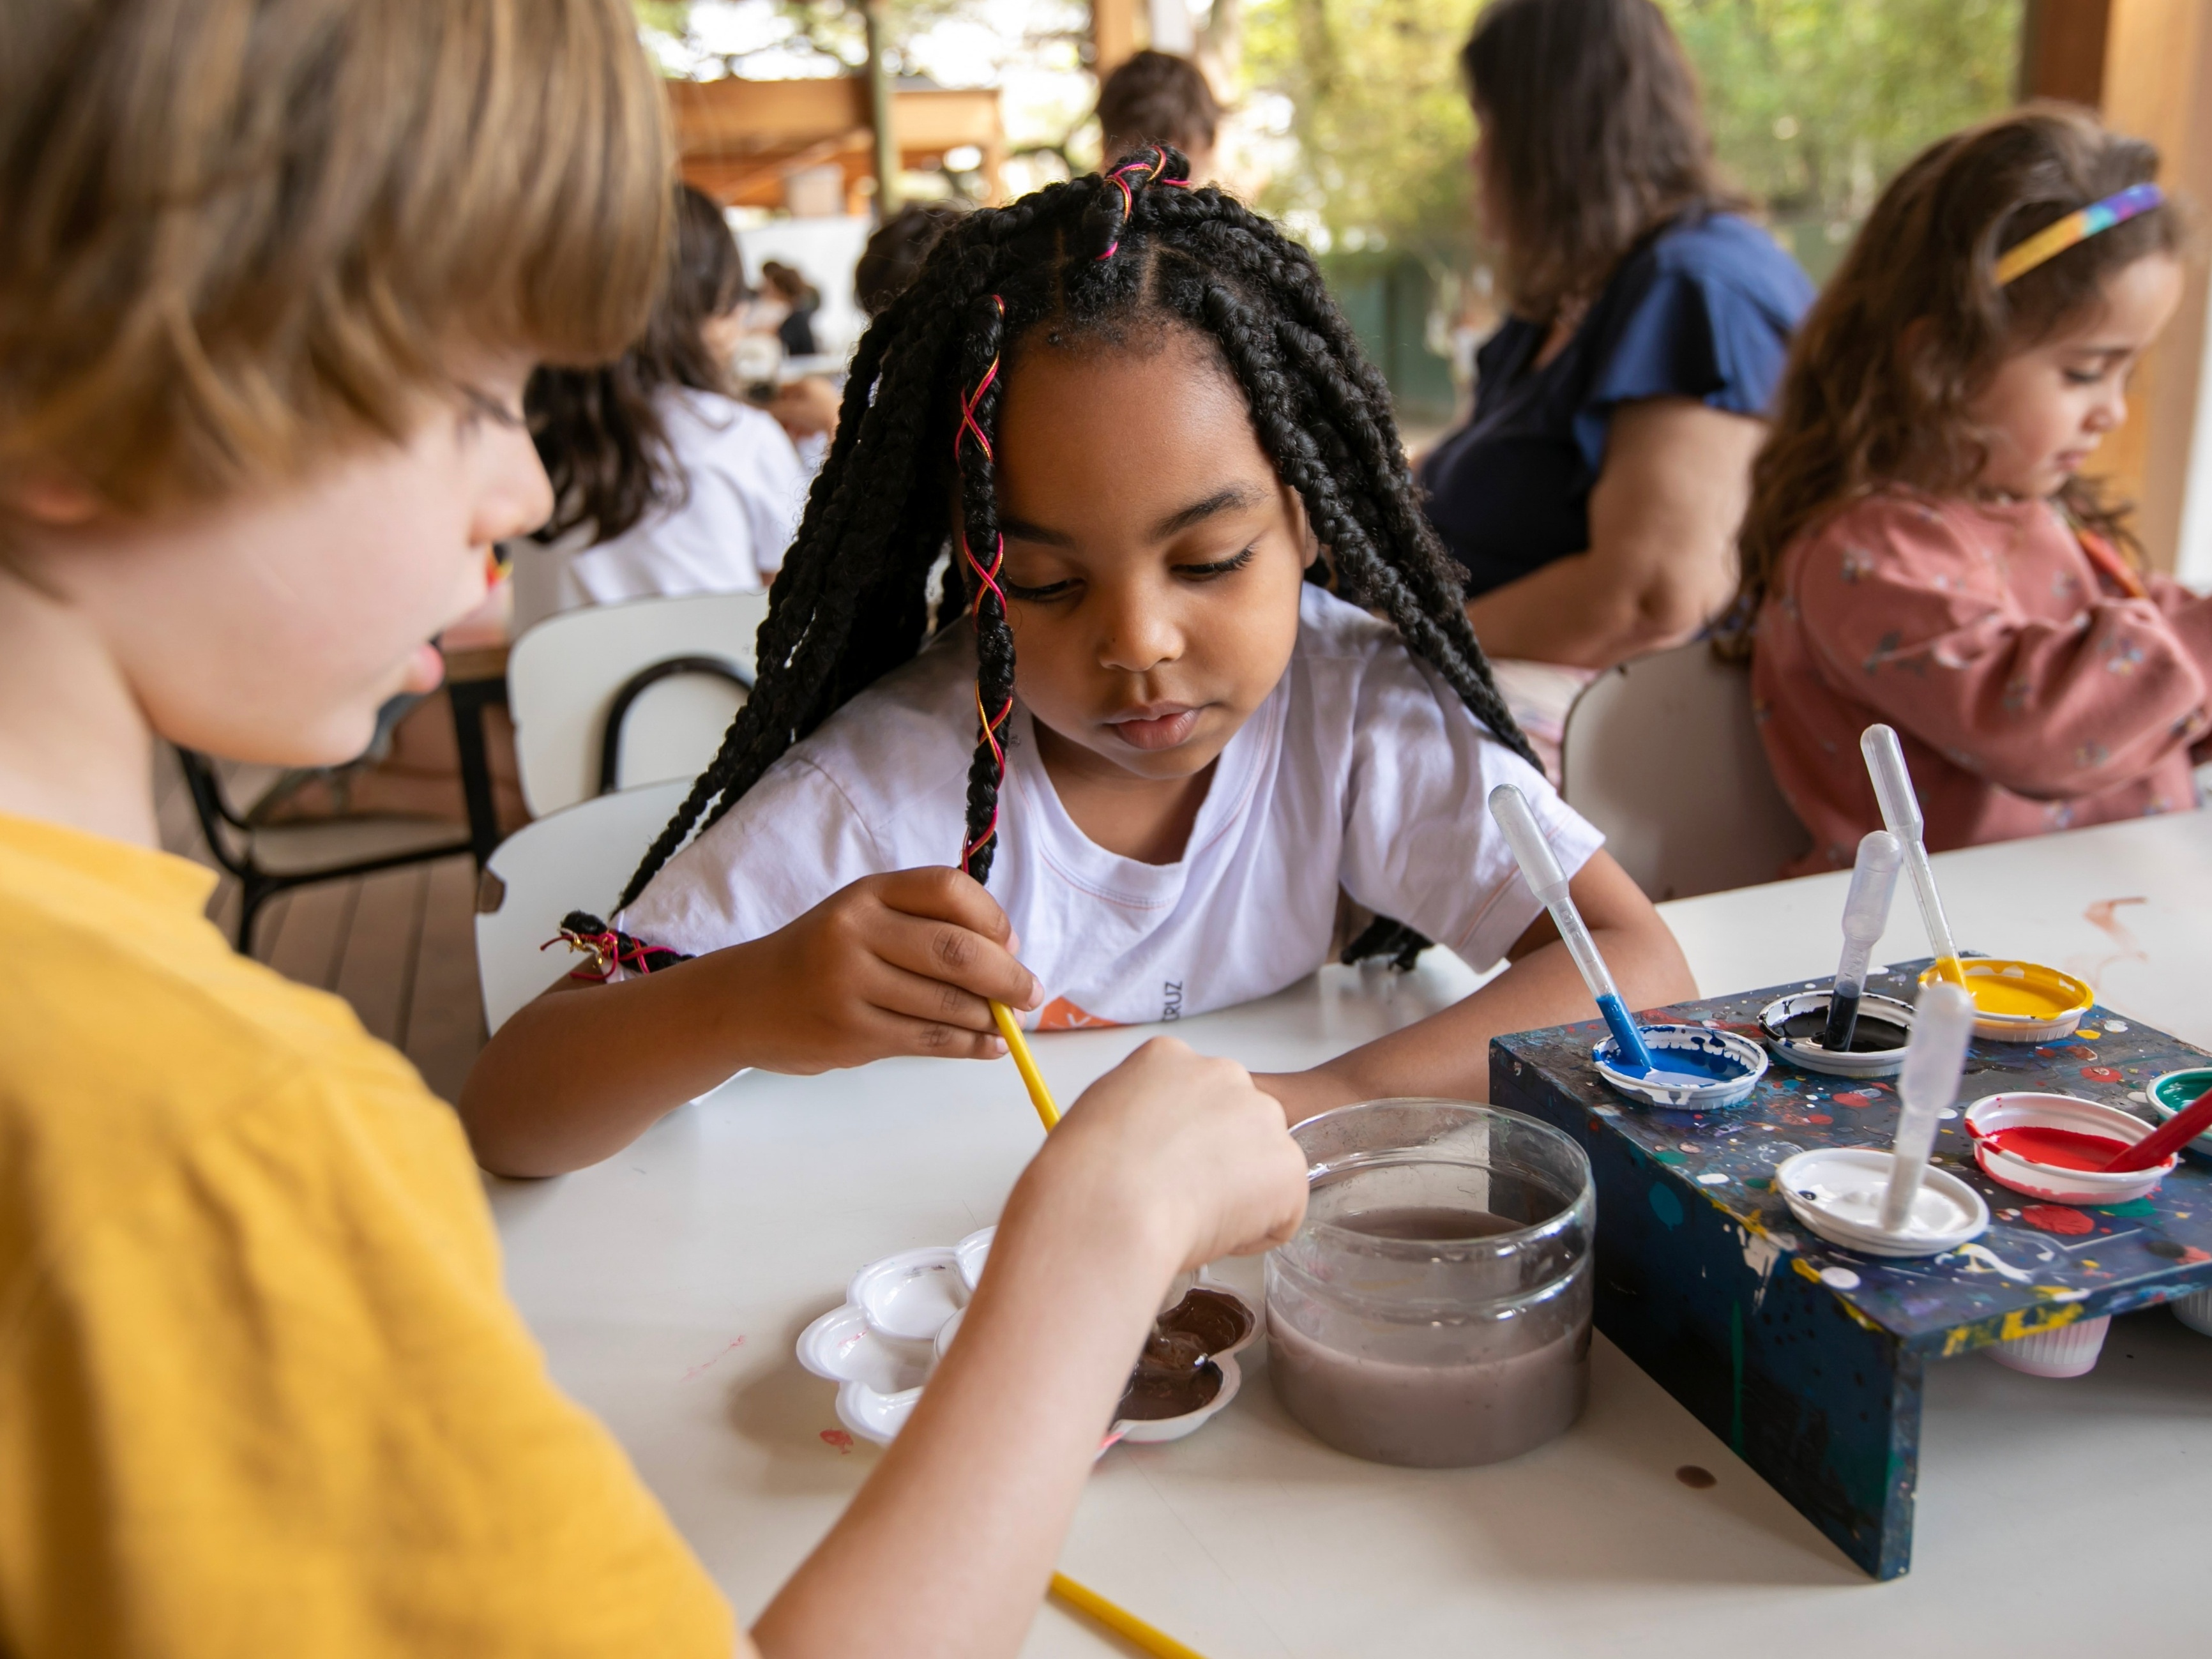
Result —
[[[1593, 852], [1568, 883], [1568, 894], [1630, 1009], [1697, 995], [1697, 980], [1666, 920], [1610, 854]], [[1292, 1124], [1334, 1106], [1394, 1095], [1489, 1099], [1491, 1037], [1597, 1018], [1597, 1004], [1551, 916], [1540, 916], [1506, 960], [1513, 967], [1442, 1013], [1312, 1071], [1265, 1075], [1259, 1086], [1283, 1102]]]

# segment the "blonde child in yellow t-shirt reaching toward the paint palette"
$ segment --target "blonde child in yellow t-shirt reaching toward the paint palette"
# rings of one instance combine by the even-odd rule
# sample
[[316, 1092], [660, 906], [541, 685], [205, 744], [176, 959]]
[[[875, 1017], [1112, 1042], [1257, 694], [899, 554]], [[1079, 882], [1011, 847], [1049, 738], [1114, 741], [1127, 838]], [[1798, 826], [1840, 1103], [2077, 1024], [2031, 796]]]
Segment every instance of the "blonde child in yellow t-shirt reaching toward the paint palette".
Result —
[[1013, 1652], [1159, 1292], [1296, 1225], [1276, 1104], [1148, 1044], [745, 1637], [546, 1378], [451, 1110], [155, 849], [157, 739], [332, 763], [436, 684], [484, 549], [549, 511], [522, 380], [622, 349], [666, 215], [622, 0], [0, 13], [15, 1659]]

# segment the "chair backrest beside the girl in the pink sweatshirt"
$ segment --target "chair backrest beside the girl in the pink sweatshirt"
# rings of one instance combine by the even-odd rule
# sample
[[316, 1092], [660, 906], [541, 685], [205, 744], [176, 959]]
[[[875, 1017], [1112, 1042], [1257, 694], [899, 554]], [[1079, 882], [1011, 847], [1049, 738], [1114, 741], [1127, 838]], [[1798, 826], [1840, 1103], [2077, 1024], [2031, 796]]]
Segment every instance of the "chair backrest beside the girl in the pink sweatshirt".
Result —
[[1593, 679], [1566, 714], [1559, 776], [1655, 900], [1774, 880], [1812, 845], [1767, 770], [1750, 670], [1701, 639]]

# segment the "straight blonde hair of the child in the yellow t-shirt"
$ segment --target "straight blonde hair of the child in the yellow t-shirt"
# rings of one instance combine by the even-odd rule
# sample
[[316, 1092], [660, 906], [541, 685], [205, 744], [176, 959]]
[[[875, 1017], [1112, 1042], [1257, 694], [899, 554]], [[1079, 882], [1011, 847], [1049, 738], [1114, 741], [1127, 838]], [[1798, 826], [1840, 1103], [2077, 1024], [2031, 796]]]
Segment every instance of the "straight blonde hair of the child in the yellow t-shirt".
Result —
[[0, 11], [0, 502], [148, 511], [403, 438], [471, 354], [602, 361], [668, 237], [622, 0]]

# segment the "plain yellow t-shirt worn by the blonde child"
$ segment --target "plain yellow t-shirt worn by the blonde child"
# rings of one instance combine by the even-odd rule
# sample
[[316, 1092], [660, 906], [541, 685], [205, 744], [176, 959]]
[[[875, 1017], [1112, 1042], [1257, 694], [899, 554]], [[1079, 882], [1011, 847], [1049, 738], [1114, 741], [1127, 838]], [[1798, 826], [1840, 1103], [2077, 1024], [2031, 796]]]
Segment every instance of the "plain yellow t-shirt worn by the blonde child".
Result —
[[726, 1659], [451, 1108], [210, 887], [0, 816], [0, 1650]]

